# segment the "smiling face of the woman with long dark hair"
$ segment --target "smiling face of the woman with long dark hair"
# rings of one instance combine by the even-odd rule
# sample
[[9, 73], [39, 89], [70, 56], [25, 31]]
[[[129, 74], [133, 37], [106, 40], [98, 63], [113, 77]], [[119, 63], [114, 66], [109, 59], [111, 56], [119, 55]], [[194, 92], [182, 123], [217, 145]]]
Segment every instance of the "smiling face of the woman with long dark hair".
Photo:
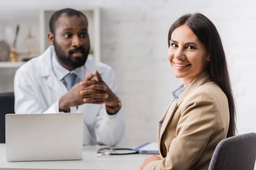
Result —
[[175, 77], [187, 85], [201, 74], [210, 60], [205, 45], [186, 25], [177, 27], [170, 40], [167, 57]]

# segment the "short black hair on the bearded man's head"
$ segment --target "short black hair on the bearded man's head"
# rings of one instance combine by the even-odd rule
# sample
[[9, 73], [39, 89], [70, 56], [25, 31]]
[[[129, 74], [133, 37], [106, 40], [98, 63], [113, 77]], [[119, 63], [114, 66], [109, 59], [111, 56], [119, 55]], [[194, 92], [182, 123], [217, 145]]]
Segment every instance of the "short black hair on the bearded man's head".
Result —
[[[85, 17], [85, 19], [87, 20], [87, 17], [81, 12], [81, 11], [77, 11], [75, 9], [72, 9], [72, 8], [64, 8], [64, 9], [61, 9], [61, 10], [58, 10], [58, 11], [55, 11], [51, 18], [50, 18], [50, 21], [49, 21], [49, 29], [50, 29], [50, 32], [52, 34], [55, 33], [55, 23], [56, 21], [58, 20], [58, 18], [62, 15], [62, 14], [67, 14], [67, 16], [71, 17], [71, 16], [78, 16], [78, 17]], [[87, 20], [87, 24], [88, 24], [88, 20]]]

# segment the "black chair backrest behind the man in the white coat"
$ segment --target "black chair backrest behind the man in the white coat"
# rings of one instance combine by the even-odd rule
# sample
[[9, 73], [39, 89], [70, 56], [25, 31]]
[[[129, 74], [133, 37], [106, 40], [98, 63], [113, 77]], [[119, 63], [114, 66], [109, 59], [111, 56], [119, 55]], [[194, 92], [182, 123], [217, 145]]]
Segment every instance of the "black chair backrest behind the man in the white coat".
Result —
[[5, 143], [5, 115], [15, 113], [14, 93], [0, 94], [0, 143]]

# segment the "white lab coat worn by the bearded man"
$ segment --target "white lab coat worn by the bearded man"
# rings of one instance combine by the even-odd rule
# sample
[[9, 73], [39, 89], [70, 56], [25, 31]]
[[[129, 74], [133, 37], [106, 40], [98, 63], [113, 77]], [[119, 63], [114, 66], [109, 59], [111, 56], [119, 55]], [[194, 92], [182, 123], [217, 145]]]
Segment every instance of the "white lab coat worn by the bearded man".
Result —
[[[67, 93], [67, 88], [52, 71], [53, 52], [54, 47], [50, 46], [44, 54], [29, 60], [17, 70], [14, 79], [16, 114], [61, 113], [59, 99]], [[116, 76], [110, 66], [88, 57], [85, 68], [90, 73], [97, 69], [109, 88], [117, 93]], [[84, 113], [84, 145], [96, 144], [97, 141], [115, 145], [124, 135], [122, 109], [111, 117], [104, 104], [84, 104], [78, 109], [70, 108], [70, 113]]]

